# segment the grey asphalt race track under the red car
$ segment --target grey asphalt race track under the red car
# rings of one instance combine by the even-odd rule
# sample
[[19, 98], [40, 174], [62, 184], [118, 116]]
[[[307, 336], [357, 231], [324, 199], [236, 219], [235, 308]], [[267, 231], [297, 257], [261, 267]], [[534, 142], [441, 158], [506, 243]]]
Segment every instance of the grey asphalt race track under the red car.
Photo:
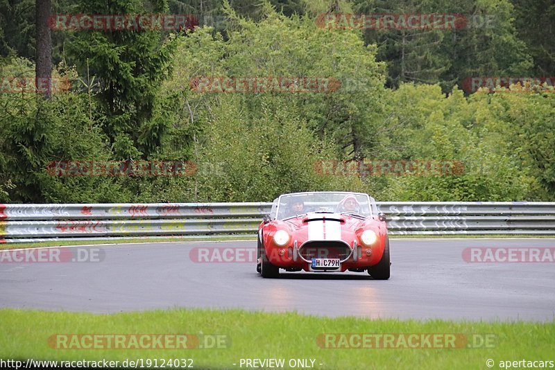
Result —
[[[400, 319], [555, 318], [555, 263], [467, 263], [467, 247], [555, 247], [555, 239], [391, 239], [391, 279], [366, 272], [282, 273], [254, 263], [196, 263], [194, 247], [255, 242], [94, 246], [101, 262], [0, 263], [0, 307], [88, 312], [245, 308]], [[74, 249], [75, 247], [71, 247]], [[83, 247], [81, 247], [83, 248]], [[283, 270], [282, 270], [283, 272]]]

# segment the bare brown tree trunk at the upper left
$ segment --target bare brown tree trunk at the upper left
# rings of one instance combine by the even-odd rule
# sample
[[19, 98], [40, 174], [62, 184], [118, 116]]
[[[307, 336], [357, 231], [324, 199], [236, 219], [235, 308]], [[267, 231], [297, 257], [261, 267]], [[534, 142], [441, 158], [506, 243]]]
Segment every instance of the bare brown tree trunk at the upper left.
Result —
[[49, 17], [51, 0], [35, 0], [35, 28], [37, 51], [35, 61], [35, 84], [37, 92], [46, 99], [52, 94], [52, 55]]

